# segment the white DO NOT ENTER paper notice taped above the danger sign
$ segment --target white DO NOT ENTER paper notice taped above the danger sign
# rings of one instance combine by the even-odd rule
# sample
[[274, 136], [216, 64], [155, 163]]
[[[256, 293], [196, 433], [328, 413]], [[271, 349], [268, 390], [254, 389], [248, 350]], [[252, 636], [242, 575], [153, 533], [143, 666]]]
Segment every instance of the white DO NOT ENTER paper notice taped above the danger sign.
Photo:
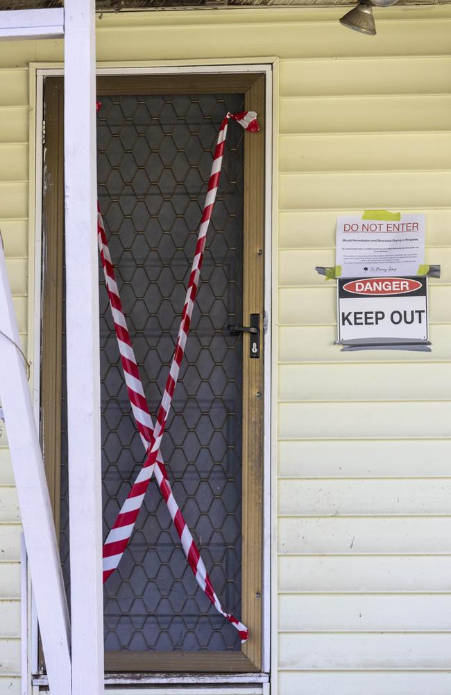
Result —
[[399, 220], [337, 218], [337, 276], [419, 275], [424, 262], [425, 215], [400, 215]]

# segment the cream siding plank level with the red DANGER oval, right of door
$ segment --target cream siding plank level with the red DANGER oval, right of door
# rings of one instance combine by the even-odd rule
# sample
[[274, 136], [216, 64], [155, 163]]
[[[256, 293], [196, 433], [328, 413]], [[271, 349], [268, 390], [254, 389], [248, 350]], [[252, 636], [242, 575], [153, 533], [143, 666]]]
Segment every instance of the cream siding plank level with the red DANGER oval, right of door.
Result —
[[[337, 289], [330, 282], [320, 287], [282, 287], [279, 290], [279, 324], [314, 325], [337, 322]], [[451, 320], [451, 286], [429, 281], [429, 321]]]

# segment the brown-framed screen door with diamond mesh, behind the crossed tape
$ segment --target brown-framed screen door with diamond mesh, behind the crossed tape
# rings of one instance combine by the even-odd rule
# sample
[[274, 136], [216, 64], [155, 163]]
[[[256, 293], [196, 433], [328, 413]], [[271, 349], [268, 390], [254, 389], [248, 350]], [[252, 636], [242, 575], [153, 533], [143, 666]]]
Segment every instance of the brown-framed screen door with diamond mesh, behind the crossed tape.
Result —
[[[99, 81], [99, 204], [154, 419], [180, 324], [219, 126], [228, 111], [259, 111], [263, 103], [262, 78], [250, 78], [237, 76], [233, 86], [230, 76]], [[47, 117], [53, 114], [58, 131], [62, 83], [48, 83]], [[253, 98], [259, 104], [250, 103]], [[262, 117], [259, 113], [260, 122]], [[46, 138], [54, 138], [48, 127]], [[247, 620], [250, 640], [241, 650], [237, 631], [198, 588], [153, 480], [124, 557], [104, 585], [108, 670], [259, 669], [263, 135], [256, 136], [257, 143], [251, 138], [237, 124], [229, 125], [185, 359], [162, 440], [174, 496], [214, 589], [226, 610]], [[46, 147], [56, 171], [60, 145], [47, 140]], [[253, 172], [257, 181], [251, 183]], [[47, 196], [44, 207], [51, 205], [58, 202]], [[60, 234], [50, 227], [46, 219], [44, 234]], [[62, 246], [60, 256], [55, 266], [58, 270], [60, 264], [63, 282]], [[131, 414], [100, 263], [99, 277], [105, 538], [144, 461], [144, 448]], [[44, 299], [50, 293], [44, 289]], [[64, 299], [61, 313], [64, 317]], [[230, 329], [248, 326], [251, 313], [259, 316], [257, 359], [250, 357], [248, 334]], [[55, 507], [70, 598], [64, 325], [62, 318], [60, 460], [55, 451], [51, 480], [52, 489], [60, 485]], [[51, 369], [47, 363], [46, 368]]]

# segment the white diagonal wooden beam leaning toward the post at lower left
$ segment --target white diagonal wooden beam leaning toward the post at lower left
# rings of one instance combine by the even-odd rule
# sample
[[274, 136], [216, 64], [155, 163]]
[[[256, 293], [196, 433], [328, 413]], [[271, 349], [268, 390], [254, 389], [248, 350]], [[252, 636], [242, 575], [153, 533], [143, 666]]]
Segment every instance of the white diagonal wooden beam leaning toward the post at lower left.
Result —
[[40, 623], [42, 646], [54, 695], [71, 687], [69, 616], [49, 489], [37, 436], [31, 395], [5, 256], [0, 244], [0, 395], [12, 469], [22, 516], [28, 564]]

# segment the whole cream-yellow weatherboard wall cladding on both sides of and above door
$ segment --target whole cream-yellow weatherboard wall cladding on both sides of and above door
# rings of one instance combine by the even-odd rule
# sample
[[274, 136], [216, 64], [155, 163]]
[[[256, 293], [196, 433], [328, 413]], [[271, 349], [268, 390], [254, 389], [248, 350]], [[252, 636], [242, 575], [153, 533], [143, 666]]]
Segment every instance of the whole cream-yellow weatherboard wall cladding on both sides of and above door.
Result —
[[[104, 14], [100, 61], [279, 58], [278, 681], [280, 695], [451, 689], [451, 8]], [[28, 63], [0, 44], [0, 229], [27, 327]], [[33, 114], [32, 114], [33, 117]], [[427, 213], [431, 354], [341, 354], [337, 213]], [[275, 231], [276, 234], [276, 231]], [[24, 335], [25, 337], [25, 335]], [[0, 439], [0, 695], [19, 693], [19, 530]], [[275, 465], [276, 462], [273, 462]]]

